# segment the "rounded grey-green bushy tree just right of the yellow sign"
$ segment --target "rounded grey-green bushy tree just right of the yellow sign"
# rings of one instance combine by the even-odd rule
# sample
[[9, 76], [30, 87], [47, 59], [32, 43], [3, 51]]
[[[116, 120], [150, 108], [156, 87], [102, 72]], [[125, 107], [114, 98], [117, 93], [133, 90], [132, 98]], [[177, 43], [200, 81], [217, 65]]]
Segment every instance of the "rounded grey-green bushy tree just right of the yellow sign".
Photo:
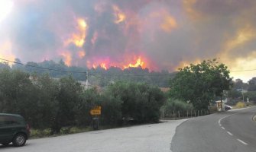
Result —
[[158, 121], [160, 106], [164, 104], [164, 93], [158, 87], [118, 81], [109, 85], [106, 93], [121, 108], [120, 118], [138, 123]]

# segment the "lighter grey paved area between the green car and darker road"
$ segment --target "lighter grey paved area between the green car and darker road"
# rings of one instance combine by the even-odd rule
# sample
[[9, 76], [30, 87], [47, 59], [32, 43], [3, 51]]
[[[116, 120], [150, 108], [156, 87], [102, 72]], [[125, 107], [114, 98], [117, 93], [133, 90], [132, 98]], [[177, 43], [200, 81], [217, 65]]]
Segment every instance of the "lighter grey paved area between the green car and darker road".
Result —
[[0, 146], [1, 152], [165, 152], [177, 125], [186, 120], [166, 121], [152, 125], [90, 131], [74, 135], [28, 140], [24, 147]]

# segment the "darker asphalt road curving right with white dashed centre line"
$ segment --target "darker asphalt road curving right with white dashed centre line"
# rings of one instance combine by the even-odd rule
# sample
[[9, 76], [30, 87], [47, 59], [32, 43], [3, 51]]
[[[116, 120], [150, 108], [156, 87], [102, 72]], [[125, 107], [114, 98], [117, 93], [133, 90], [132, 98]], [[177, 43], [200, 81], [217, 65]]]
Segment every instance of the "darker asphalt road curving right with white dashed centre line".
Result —
[[256, 151], [256, 106], [183, 122], [173, 137], [173, 152]]

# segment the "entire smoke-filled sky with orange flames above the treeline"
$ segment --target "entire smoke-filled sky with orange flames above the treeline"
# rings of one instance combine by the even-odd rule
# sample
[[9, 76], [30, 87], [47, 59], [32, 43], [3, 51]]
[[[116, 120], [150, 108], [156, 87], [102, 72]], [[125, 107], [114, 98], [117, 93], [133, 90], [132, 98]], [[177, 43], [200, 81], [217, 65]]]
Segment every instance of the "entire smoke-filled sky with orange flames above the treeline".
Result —
[[1, 0], [0, 58], [89, 68], [177, 68], [218, 59], [256, 76], [254, 0]]

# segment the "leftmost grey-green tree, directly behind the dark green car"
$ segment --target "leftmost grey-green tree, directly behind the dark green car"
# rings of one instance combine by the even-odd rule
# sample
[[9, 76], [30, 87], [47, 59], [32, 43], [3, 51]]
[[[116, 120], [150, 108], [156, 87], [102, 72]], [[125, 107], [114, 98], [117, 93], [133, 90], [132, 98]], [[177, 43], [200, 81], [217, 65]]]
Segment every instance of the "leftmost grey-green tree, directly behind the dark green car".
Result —
[[33, 125], [37, 115], [37, 90], [29, 76], [19, 70], [0, 70], [0, 111], [21, 114]]

